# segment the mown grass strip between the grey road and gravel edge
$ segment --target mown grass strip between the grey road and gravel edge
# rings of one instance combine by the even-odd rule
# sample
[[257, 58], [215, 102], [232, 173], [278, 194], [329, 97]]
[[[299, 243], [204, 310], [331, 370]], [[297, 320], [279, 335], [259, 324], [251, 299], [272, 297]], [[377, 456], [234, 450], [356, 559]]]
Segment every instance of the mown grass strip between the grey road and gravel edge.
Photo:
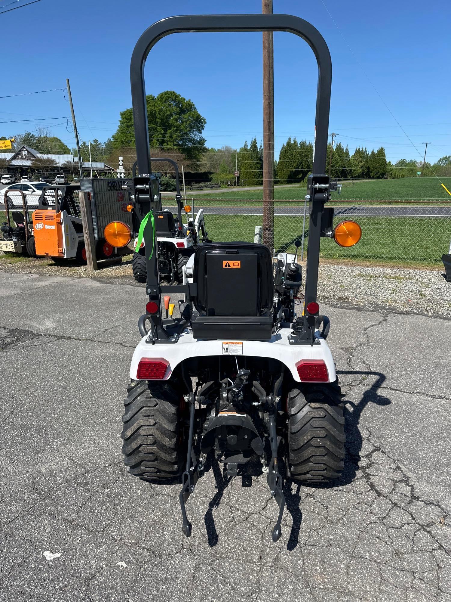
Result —
[[[336, 219], [335, 223], [340, 220]], [[360, 242], [345, 249], [330, 238], [321, 240], [321, 256], [346, 261], [393, 262], [394, 264], [439, 264], [451, 237], [451, 218], [358, 217], [362, 229]], [[209, 237], [214, 241], [253, 241], [261, 216], [206, 216]], [[294, 252], [294, 242], [302, 237], [302, 219], [275, 217], [276, 253]], [[307, 250], [308, 232], [304, 249]], [[305, 258], [305, 256], [304, 256]]]

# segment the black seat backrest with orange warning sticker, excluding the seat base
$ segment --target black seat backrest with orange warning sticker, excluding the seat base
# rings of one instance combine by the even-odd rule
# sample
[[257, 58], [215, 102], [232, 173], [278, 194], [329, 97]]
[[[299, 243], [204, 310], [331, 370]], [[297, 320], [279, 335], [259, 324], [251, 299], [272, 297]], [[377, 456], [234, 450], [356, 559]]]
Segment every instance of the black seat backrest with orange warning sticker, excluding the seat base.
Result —
[[210, 243], [197, 247], [194, 307], [205, 316], [269, 316], [274, 296], [272, 258], [255, 243]]

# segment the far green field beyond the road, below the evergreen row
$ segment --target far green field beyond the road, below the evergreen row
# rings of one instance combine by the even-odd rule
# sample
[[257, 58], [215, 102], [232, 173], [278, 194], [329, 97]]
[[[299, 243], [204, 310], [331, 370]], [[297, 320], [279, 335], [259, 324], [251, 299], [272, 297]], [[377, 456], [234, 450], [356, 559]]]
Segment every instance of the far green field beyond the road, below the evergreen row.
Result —
[[[443, 184], [451, 191], [451, 178], [442, 178]], [[301, 186], [276, 187], [274, 197], [276, 200], [302, 200], [307, 194], [307, 188]], [[194, 198], [195, 205], [210, 205], [211, 201], [224, 200], [253, 200], [262, 199], [263, 191], [260, 190], [218, 190], [211, 194], [197, 194], [187, 192], [187, 199]], [[343, 182], [342, 194], [333, 193], [331, 200], [414, 200], [416, 202], [450, 203], [451, 196], [444, 190], [437, 178], [398, 178], [393, 180], [360, 180], [357, 182]], [[246, 205], [248, 203], [245, 203]], [[259, 204], [259, 203], [251, 203]]]

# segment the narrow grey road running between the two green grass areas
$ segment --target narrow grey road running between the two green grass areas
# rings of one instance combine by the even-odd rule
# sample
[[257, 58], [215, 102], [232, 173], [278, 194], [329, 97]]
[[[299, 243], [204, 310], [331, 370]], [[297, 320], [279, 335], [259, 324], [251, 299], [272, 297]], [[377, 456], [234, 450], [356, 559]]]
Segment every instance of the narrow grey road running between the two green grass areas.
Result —
[[[177, 213], [176, 207], [164, 207], [170, 209], [173, 213]], [[217, 207], [204, 207], [201, 205], [194, 206], [194, 212], [203, 209], [204, 214], [210, 216], [262, 216], [262, 207], [248, 206], [232, 206], [227, 207], [219, 205]], [[308, 212], [308, 207], [307, 207]], [[299, 207], [274, 207], [275, 216], [303, 216], [304, 208]], [[364, 205], [349, 205], [346, 207], [334, 207], [335, 216], [390, 216], [390, 217], [451, 217], [451, 206], [364, 206]]]

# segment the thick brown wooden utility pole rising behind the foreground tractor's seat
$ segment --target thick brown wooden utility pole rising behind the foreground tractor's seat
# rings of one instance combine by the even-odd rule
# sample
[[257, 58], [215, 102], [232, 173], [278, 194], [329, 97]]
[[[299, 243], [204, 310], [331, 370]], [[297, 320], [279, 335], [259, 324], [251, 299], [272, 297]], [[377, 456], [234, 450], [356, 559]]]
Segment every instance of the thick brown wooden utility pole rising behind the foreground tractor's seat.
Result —
[[[262, 0], [262, 13], [272, 14], [272, 0]], [[263, 31], [263, 244], [274, 251], [274, 43]]]

